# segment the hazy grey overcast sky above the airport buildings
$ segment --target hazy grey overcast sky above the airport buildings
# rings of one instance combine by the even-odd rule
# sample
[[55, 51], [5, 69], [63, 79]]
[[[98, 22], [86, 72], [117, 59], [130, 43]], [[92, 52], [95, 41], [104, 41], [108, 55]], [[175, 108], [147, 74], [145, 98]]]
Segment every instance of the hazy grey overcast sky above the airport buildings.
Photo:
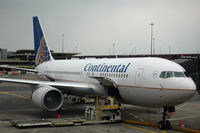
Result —
[[152, 22], [156, 53], [200, 52], [200, 0], [0, 0], [0, 48], [33, 49], [33, 16], [56, 52], [149, 54]]

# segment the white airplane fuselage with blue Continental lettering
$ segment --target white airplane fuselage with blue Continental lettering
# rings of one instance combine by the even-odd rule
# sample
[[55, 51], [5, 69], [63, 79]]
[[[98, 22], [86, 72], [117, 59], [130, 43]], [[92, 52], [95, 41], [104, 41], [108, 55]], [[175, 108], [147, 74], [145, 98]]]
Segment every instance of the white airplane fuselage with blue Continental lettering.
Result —
[[55, 60], [36, 69], [55, 81], [94, 84], [97, 95], [107, 94], [93, 77], [107, 77], [117, 84], [124, 102], [139, 106], [171, 107], [196, 92], [190, 77], [160, 78], [163, 71], [185, 72], [180, 65], [161, 58]]

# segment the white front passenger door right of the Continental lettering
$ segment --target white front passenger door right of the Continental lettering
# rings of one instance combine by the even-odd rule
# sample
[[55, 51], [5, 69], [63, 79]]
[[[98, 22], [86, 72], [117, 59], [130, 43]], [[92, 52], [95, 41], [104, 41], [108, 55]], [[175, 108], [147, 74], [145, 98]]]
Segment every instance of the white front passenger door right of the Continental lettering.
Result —
[[144, 82], [144, 68], [137, 69], [135, 81], [136, 86], [142, 85], [142, 83]]

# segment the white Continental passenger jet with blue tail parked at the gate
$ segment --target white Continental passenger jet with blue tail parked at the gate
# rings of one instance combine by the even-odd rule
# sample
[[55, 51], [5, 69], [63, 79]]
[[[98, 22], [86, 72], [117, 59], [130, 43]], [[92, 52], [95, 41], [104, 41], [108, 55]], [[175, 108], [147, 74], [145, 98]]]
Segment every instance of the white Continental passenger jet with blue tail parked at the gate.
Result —
[[[194, 96], [196, 85], [179, 64], [162, 58], [54, 60], [38, 17], [33, 17], [35, 70], [50, 81], [0, 78], [1, 82], [28, 84], [32, 101], [47, 111], [63, 105], [63, 95], [115, 96], [132, 105], [160, 108], [160, 129], [170, 128], [168, 112]], [[5, 66], [4, 66], [5, 67]]]

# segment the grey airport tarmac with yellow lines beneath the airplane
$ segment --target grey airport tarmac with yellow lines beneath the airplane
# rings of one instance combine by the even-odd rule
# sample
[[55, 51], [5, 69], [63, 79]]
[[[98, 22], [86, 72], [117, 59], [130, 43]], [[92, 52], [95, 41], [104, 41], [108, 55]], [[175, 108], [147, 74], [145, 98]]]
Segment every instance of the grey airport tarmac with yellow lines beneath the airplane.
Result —
[[[34, 127], [16, 128], [10, 124], [11, 120], [30, 119], [58, 119], [80, 118], [84, 116], [84, 104], [75, 104], [65, 100], [62, 112], [46, 112], [31, 101], [31, 89], [28, 85], [0, 83], [0, 132], [4, 133], [178, 133], [176, 130], [159, 130], [152, 126], [142, 126], [133, 123], [112, 123], [100, 125], [80, 125], [62, 127]], [[162, 114], [158, 109], [138, 107], [122, 104], [122, 120], [158, 123]], [[176, 112], [170, 117], [171, 124], [182, 127], [198, 129], [200, 132], [200, 95], [196, 94], [192, 99], [176, 107]]]

